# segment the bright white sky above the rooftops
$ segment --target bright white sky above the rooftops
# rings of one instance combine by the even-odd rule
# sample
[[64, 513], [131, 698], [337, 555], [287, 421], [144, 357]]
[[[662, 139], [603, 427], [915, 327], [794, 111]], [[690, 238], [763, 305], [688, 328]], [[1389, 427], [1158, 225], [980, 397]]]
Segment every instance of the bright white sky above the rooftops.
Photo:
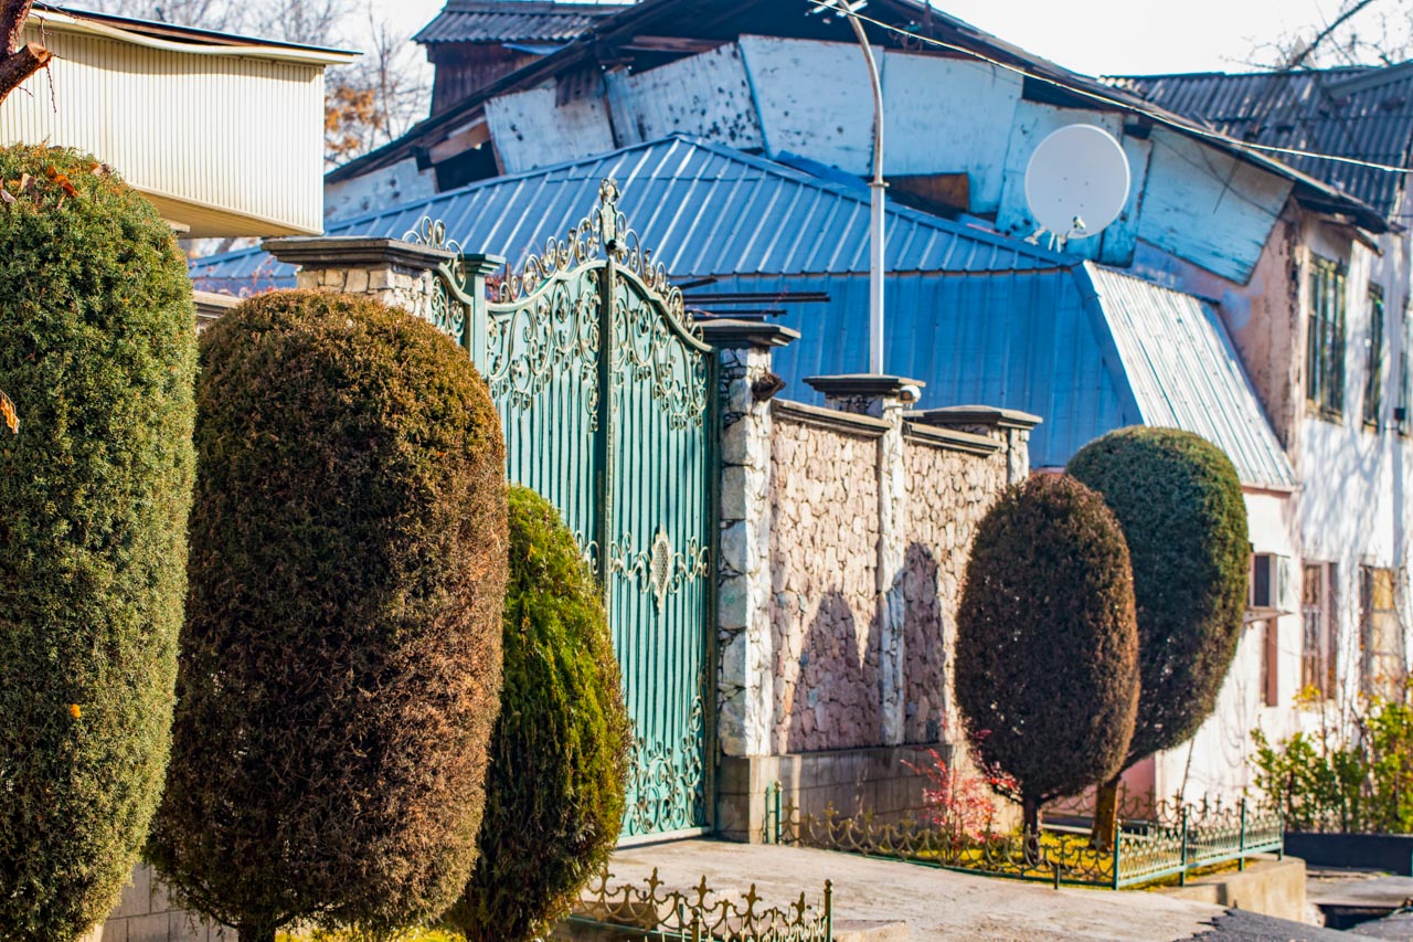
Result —
[[[804, 3], [804, 0], [779, 0]], [[1399, 0], [1383, 0], [1396, 7]], [[373, 0], [408, 33], [442, 0]], [[1252, 50], [1323, 25], [1340, 0], [934, 0], [947, 13], [1088, 75], [1246, 71]]]

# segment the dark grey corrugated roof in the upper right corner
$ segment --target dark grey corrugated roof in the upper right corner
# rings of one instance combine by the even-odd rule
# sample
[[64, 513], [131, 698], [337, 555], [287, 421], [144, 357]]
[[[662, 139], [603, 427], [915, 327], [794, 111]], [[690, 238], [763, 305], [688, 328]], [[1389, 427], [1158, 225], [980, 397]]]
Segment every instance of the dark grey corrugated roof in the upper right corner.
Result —
[[[1248, 143], [1413, 165], [1413, 64], [1228, 75], [1136, 75], [1119, 88]], [[1282, 161], [1392, 216], [1403, 175], [1316, 157]]]

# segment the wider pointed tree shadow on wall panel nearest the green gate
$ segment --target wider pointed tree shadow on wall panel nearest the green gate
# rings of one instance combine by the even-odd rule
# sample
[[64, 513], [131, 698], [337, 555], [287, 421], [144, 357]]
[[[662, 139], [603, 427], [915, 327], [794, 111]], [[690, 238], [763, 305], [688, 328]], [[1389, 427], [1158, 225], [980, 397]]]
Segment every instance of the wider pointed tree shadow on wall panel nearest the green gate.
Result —
[[820, 601], [800, 653], [790, 704], [790, 752], [877, 745], [879, 648], [869, 625], [861, 638], [853, 610], [838, 590]]

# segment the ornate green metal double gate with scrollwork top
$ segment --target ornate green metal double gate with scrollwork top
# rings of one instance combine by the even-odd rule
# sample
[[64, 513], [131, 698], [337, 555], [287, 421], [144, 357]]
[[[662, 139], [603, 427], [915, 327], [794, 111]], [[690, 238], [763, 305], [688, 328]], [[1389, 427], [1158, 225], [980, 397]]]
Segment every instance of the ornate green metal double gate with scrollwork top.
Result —
[[567, 239], [490, 286], [451, 249], [432, 321], [490, 383], [512, 481], [550, 499], [603, 586], [634, 724], [623, 836], [706, 826], [706, 625], [714, 570], [711, 348], [608, 180]]

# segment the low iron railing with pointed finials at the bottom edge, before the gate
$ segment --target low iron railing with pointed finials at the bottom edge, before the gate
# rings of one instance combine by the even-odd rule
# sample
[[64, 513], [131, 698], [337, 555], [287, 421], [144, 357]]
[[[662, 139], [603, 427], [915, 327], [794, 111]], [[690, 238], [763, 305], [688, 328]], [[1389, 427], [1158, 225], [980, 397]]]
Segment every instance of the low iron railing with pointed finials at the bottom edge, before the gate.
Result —
[[640, 884], [615, 884], [606, 868], [585, 890], [569, 922], [593, 926], [625, 942], [832, 942], [834, 887], [822, 904], [805, 894], [786, 908], [766, 907], [755, 884], [736, 897], [701, 878], [691, 890], [670, 890], [657, 870]]

